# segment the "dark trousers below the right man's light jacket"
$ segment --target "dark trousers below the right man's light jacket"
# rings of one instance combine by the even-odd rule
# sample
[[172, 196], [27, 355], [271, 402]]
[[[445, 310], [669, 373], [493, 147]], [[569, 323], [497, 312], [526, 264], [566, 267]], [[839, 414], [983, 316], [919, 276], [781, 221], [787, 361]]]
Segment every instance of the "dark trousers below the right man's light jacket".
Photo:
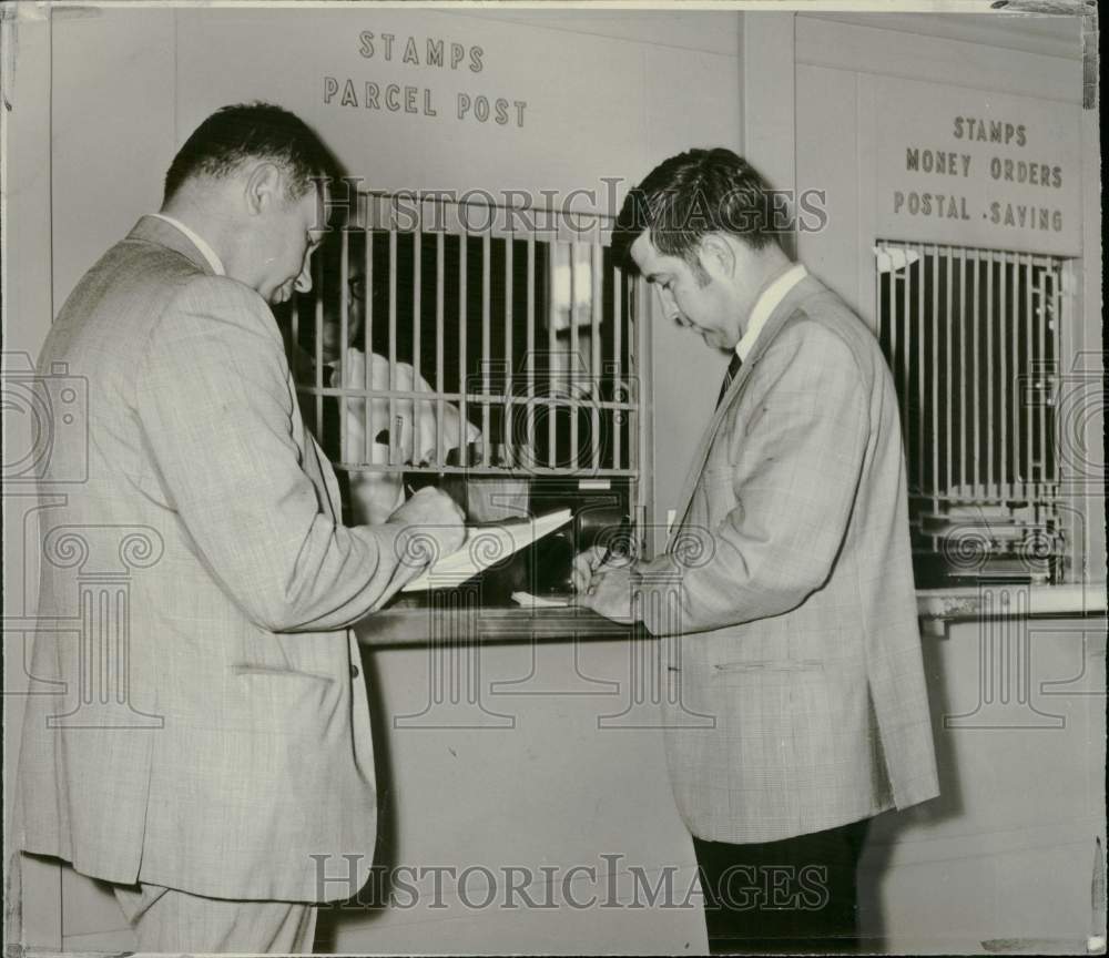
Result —
[[855, 868], [868, 825], [747, 845], [694, 838], [710, 952], [854, 950]]

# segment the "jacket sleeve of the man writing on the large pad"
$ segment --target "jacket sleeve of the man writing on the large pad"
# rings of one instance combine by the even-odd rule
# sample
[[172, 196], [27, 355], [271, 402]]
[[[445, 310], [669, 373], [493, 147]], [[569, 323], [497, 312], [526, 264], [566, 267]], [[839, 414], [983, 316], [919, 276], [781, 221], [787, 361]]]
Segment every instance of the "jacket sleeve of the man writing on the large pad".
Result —
[[177, 293], [151, 330], [135, 405], [170, 508], [258, 625], [342, 628], [419, 571], [403, 561], [403, 527], [325, 514], [273, 316], [247, 287], [197, 277]]

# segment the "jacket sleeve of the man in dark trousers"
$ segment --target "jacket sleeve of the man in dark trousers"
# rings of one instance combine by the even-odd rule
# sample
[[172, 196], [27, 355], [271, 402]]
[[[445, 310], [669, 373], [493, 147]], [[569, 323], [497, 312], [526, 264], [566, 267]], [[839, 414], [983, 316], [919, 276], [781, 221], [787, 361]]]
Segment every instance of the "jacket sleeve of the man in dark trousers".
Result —
[[716, 442], [728, 465], [694, 495], [735, 507], [714, 529], [683, 528], [640, 567], [648, 630], [699, 632], [780, 615], [831, 574], [869, 436], [868, 401], [849, 347], [814, 323], [786, 327], [750, 373]]

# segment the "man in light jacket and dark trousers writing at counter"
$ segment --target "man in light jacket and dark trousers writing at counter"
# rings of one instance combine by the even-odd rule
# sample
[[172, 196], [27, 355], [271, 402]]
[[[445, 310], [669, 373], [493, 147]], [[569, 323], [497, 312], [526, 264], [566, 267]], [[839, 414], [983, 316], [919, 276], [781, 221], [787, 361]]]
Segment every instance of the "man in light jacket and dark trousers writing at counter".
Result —
[[830, 950], [856, 934], [866, 823], [938, 783], [893, 380], [773, 226], [766, 183], [723, 149], [628, 196], [614, 252], [731, 361], [665, 554], [583, 553], [576, 584], [678, 636], [665, 747], [712, 947]]

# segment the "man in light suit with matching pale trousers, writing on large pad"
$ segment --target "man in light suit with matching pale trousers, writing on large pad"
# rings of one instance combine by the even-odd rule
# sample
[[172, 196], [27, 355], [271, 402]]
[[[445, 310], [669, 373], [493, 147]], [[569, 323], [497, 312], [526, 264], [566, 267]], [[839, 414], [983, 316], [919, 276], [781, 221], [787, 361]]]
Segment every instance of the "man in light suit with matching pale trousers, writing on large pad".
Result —
[[374, 855], [347, 626], [462, 539], [430, 489], [345, 528], [301, 418], [269, 306], [311, 286], [335, 174], [291, 113], [216, 112], [40, 357], [88, 384], [89, 441], [41, 476], [39, 614], [72, 624], [35, 639], [22, 847], [113, 883], [144, 951], [311, 950]]

